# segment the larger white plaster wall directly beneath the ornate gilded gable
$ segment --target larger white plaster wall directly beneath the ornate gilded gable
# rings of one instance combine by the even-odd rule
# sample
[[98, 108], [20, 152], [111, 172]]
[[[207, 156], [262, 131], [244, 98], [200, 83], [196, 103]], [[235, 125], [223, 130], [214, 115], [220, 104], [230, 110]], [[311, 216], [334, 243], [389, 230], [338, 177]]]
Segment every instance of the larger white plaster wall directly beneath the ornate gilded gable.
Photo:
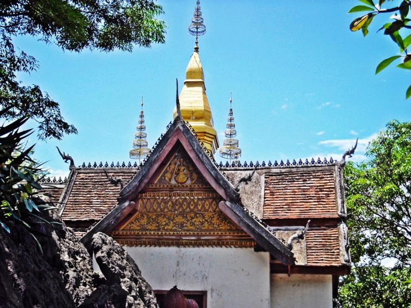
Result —
[[157, 290], [207, 291], [207, 308], [269, 308], [270, 257], [246, 248], [125, 247]]

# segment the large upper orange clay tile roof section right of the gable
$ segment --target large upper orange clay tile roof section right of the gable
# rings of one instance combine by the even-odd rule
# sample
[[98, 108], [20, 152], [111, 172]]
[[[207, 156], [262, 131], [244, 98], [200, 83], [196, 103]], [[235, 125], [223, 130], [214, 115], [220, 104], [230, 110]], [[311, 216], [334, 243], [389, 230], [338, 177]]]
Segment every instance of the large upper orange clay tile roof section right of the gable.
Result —
[[265, 174], [263, 219], [338, 218], [334, 168]]

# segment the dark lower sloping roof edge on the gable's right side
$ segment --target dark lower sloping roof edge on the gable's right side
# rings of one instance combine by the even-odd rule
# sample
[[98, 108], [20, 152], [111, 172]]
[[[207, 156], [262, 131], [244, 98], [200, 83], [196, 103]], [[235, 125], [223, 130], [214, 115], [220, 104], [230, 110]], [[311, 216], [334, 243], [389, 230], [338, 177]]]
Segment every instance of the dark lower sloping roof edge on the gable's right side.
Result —
[[285, 265], [295, 264], [294, 254], [270, 232], [268, 226], [237, 203], [221, 201], [220, 210], [237, 226], [247, 232], [262, 248]]

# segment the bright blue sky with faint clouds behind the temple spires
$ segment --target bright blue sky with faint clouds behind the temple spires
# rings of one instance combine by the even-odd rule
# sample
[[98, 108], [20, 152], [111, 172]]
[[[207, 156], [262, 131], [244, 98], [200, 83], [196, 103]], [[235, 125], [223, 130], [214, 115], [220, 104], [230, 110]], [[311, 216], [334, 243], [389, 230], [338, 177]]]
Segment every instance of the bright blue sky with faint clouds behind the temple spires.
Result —
[[[38, 84], [61, 104], [78, 135], [37, 141], [35, 157], [52, 174], [68, 174], [55, 146], [76, 165], [83, 161], [128, 162], [144, 96], [151, 147], [172, 120], [175, 78], [180, 90], [193, 51], [187, 27], [195, 1], [158, 1], [168, 25], [166, 43], [132, 53], [64, 52], [35, 38], [16, 45], [35, 56], [37, 72], [19, 75]], [[364, 159], [369, 140], [391, 119], [409, 120], [405, 101], [409, 71], [377, 64], [399, 51], [376, 30], [388, 16], [377, 16], [370, 34], [351, 33], [359, 14], [346, 12], [358, 1], [202, 0], [206, 35], [199, 38], [207, 96], [220, 143], [232, 92], [241, 162], [292, 160], [342, 153], [360, 138], [353, 158]], [[32, 123], [35, 126], [35, 123]], [[218, 154], [216, 160], [222, 160]]]

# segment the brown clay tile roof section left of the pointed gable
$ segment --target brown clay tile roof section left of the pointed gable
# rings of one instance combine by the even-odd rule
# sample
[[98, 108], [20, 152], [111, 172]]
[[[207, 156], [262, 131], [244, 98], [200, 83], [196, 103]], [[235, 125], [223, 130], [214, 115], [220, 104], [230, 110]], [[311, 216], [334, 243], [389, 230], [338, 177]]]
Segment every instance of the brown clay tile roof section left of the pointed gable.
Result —
[[[136, 168], [104, 168], [111, 176], [122, 178], [127, 182], [136, 172]], [[107, 179], [103, 168], [76, 169], [69, 181], [69, 191], [62, 201], [64, 210], [62, 213], [63, 220], [81, 221], [81, 220], [100, 220], [114, 206], [118, 204], [120, 185], [114, 186]], [[71, 189], [70, 189], [71, 188]]]

